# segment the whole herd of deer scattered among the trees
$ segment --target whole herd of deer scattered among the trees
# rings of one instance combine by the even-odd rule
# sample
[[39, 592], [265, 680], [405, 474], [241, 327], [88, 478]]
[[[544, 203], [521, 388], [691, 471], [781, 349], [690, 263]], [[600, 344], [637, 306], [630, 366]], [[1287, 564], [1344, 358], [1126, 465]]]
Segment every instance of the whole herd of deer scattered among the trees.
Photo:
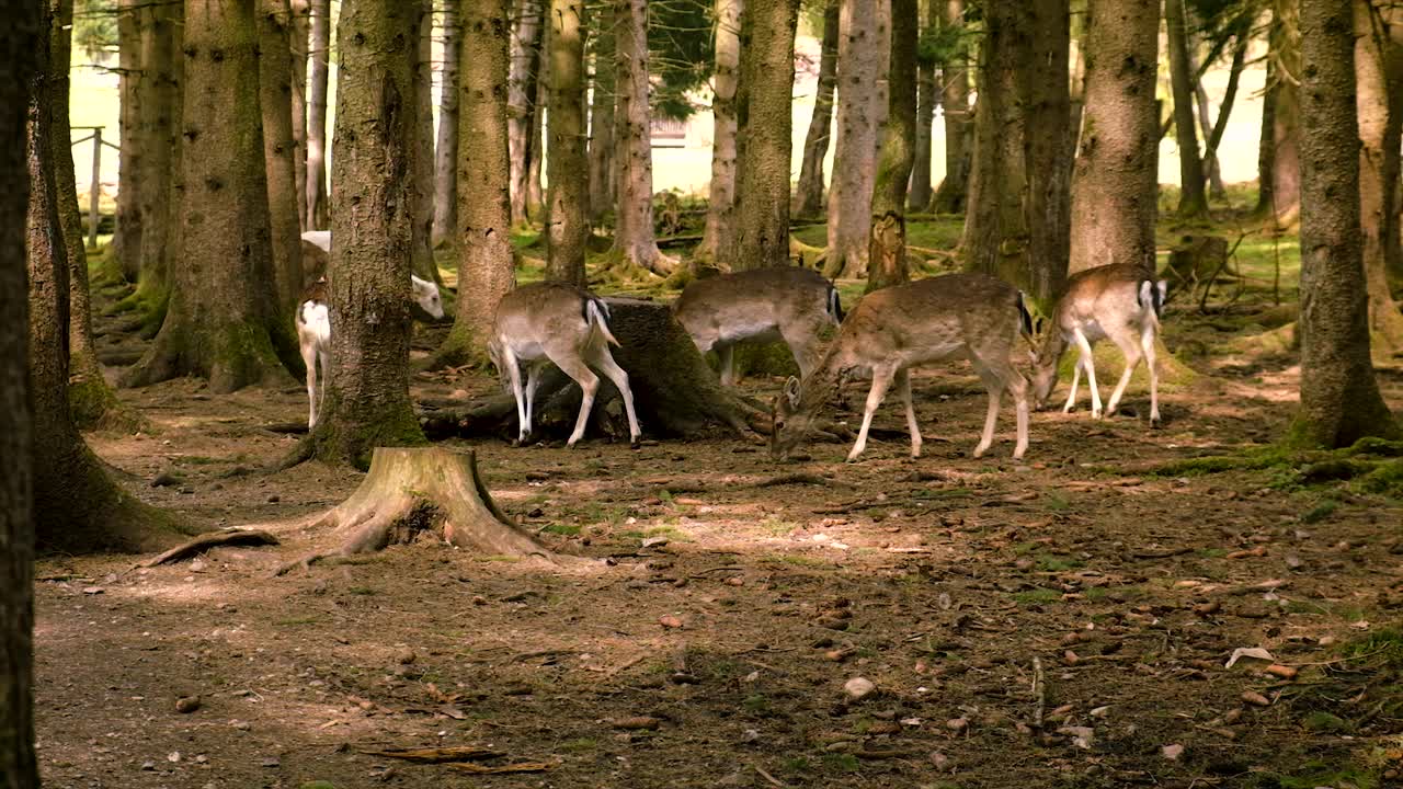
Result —
[[[330, 250], [330, 233], [306, 233], [304, 240]], [[863, 424], [847, 453], [854, 460], [867, 446], [873, 414], [895, 383], [906, 407], [911, 456], [920, 455], [920, 427], [911, 400], [911, 369], [947, 359], [969, 359], [989, 393], [984, 432], [974, 456], [993, 444], [993, 428], [1005, 390], [1017, 410], [1017, 445], [1013, 456], [1028, 448], [1028, 409], [1041, 409], [1056, 386], [1063, 352], [1075, 345], [1078, 362], [1063, 413], [1076, 404], [1080, 376], [1092, 390], [1092, 417], [1115, 413], [1135, 368], [1149, 369], [1150, 424], [1159, 423], [1159, 379], [1155, 341], [1164, 306], [1166, 284], [1146, 278], [1141, 268], [1114, 264], [1076, 274], [1052, 310], [1049, 324], [1037, 337], [1023, 293], [982, 274], [948, 274], [918, 279], [866, 295], [845, 316], [833, 284], [805, 268], [763, 268], [696, 281], [682, 292], [672, 310], [700, 352], [720, 357], [721, 383], [735, 380], [732, 348], [737, 343], [783, 340], [794, 354], [800, 378], [790, 378], [774, 403], [770, 452], [784, 459], [812, 431], [818, 413], [838, 394], [843, 382], [871, 379]], [[411, 277], [414, 302], [429, 316], [442, 317], [438, 288]], [[307, 291], [297, 307], [297, 337], [307, 362], [309, 427], [317, 423], [317, 362], [328, 371], [331, 326], [325, 281]], [[1042, 321], [1040, 320], [1038, 324]], [[821, 345], [821, 334], [838, 327], [838, 337]], [[1092, 345], [1110, 338], [1125, 355], [1125, 371], [1103, 410], [1096, 386]], [[1023, 348], [1020, 350], [1020, 341]], [[609, 330], [609, 303], [571, 285], [523, 285], [497, 306], [488, 355], [516, 399], [518, 442], [532, 432], [532, 407], [542, 372], [551, 364], [584, 392], [575, 430], [567, 446], [584, 435], [602, 372], [619, 389], [629, 417], [629, 437], [641, 435], [629, 373], [609, 345], [619, 345]], [[1017, 359], [1031, 362], [1033, 380]], [[523, 369], [525, 368], [525, 380]]]

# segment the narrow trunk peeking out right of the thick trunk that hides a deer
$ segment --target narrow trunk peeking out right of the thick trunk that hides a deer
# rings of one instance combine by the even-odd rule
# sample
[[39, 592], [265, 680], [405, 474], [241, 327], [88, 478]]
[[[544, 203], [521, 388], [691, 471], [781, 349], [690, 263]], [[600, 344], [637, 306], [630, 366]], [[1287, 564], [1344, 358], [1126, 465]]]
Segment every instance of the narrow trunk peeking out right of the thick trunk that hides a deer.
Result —
[[[434, 0], [418, 0], [418, 46], [414, 58], [414, 225], [410, 265], [414, 275], [441, 282], [434, 263]], [[333, 164], [334, 167], [334, 164]]]

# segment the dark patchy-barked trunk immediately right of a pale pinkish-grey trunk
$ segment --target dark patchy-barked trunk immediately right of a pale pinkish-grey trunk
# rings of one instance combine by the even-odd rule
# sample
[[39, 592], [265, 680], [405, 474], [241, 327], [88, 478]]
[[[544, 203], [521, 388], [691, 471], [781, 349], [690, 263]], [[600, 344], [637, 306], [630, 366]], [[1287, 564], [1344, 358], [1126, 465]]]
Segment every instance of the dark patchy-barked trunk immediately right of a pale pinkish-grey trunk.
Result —
[[867, 291], [911, 279], [906, 270], [906, 184], [916, 159], [916, 0], [891, 0], [887, 121], [873, 187]]

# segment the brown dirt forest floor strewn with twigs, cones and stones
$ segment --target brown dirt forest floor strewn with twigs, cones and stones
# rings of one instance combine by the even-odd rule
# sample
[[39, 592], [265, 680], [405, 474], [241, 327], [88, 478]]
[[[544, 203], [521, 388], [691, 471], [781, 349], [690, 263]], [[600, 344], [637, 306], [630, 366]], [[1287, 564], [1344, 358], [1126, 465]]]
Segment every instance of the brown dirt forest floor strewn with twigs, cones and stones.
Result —
[[[564, 570], [419, 542], [272, 577], [331, 548], [307, 526], [362, 479], [261, 470], [295, 444], [267, 428], [306, 417], [303, 389], [125, 390], [147, 430], [88, 441], [133, 496], [282, 545], [39, 563], [46, 785], [1403, 785], [1403, 504], [1247, 462], [1299, 375], [1264, 344], [1225, 350], [1268, 312], [1172, 306], [1167, 345], [1211, 352], [1183, 354], [1198, 375], [1164, 387], [1164, 425], [1138, 387], [1092, 421], [1083, 389], [1034, 416], [1024, 462], [1012, 407], [969, 456], [985, 394], [962, 365], [915, 376], [919, 460], [895, 400], [853, 465], [846, 445], [776, 465], [727, 435], [443, 442], [476, 448], [542, 539], [598, 560]], [[1108, 394], [1120, 366], [1097, 372]], [[1379, 379], [1403, 410], [1403, 375]], [[421, 399], [495, 389], [414, 379]], [[1205, 455], [1246, 460], [1166, 466]], [[1267, 651], [1229, 668], [1239, 649]], [[540, 772], [380, 754], [466, 747]]]

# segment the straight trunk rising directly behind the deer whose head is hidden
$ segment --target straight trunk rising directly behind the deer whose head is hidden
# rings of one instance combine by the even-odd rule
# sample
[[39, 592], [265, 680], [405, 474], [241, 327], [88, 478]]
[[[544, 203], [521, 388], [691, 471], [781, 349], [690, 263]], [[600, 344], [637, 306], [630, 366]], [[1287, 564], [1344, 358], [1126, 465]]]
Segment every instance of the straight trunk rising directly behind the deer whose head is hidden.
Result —
[[790, 153], [793, 149], [794, 29], [798, 0], [748, 0], [742, 20], [744, 146], [737, 168], [735, 271], [788, 263]]

